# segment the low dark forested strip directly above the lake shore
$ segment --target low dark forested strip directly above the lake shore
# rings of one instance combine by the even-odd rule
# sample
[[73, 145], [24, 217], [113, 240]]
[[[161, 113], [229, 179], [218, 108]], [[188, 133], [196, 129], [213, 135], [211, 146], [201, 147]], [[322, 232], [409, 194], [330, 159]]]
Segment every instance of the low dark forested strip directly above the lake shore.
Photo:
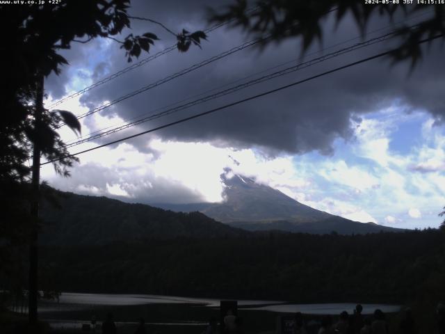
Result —
[[298, 303], [445, 300], [443, 231], [170, 239], [42, 249], [61, 291]]

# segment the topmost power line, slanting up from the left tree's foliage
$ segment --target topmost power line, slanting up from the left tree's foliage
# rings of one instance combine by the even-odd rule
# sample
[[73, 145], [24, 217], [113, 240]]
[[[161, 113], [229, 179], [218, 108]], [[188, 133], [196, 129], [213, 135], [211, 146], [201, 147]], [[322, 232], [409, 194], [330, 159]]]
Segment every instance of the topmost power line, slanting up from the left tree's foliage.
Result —
[[[253, 13], [258, 8], [259, 8], [258, 6], [254, 7], [254, 8], [251, 8], [250, 10], [248, 10], [248, 13]], [[210, 28], [204, 30], [204, 33], [210, 33], [211, 31], [214, 31], [214, 30], [220, 28], [221, 26], [225, 26], [227, 24], [230, 24], [230, 23], [234, 22], [234, 20], [235, 19], [229, 19], [226, 22], [221, 22], [219, 24], [214, 24]], [[60, 99], [60, 100], [54, 102], [53, 104], [51, 104], [51, 106], [49, 106], [49, 109], [50, 110], [54, 109], [59, 104], [65, 102], [67, 100], [70, 100], [73, 97], [82, 95], [83, 93], [88, 92], [88, 90], [92, 90], [93, 88], [96, 88], [97, 86], [101, 86], [103, 84], [106, 84], [108, 81], [111, 81], [111, 80], [113, 80], [113, 79], [115, 79], [117, 77], [120, 77], [122, 74], [127, 73], [127, 72], [129, 72], [131, 70], [134, 70], [135, 68], [138, 68], [138, 67], [140, 67], [142, 65], [145, 65], [146, 63], [149, 63], [150, 61], [153, 61], [154, 59], [159, 58], [160, 56], [163, 56], [164, 54], [168, 54], [169, 52], [171, 52], [171, 51], [173, 51], [175, 49], [177, 49], [177, 45], [176, 44], [175, 45], [171, 45], [170, 47], [166, 47], [162, 51], [159, 51], [158, 53], [156, 53], [156, 54], [154, 54], [152, 56], [149, 56], [149, 57], [143, 59], [142, 61], [138, 61], [138, 63], [133, 63], [133, 65], [125, 67], [123, 70], [115, 72], [115, 73], [109, 75], [108, 77], [105, 77], [104, 79], [101, 79], [101, 80], [95, 82], [94, 84], [92, 84], [90, 86], [87, 86], [87, 87], [85, 87], [85, 88], [83, 88], [81, 90], [76, 91], [76, 93], [72, 93], [71, 95], [68, 95], [67, 97], [63, 97], [63, 99]]]

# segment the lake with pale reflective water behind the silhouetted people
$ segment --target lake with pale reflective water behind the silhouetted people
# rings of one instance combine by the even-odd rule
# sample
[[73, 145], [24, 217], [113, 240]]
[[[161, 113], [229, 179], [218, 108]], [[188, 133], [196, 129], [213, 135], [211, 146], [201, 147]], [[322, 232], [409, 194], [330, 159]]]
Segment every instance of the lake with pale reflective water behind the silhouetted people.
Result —
[[[149, 294], [81, 294], [63, 293], [60, 301], [41, 301], [39, 317], [51, 327], [64, 331], [80, 329], [90, 324], [93, 316], [100, 324], [108, 312], [113, 312], [120, 333], [133, 333], [139, 318], [159, 333], [201, 333], [210, 317], [219, 319], [220, 299], [200, 299]], [[397, 305], [362, 304], [364, 314], [376, 308], [397, 312]], [[277, 315], [302, 312], [307, 315], [339, 315], [353, 312], [355, 303], [292, 304], [286, 301], [238, 301], [238, 315], [243, 317], [246, 332], [272, 331]]]

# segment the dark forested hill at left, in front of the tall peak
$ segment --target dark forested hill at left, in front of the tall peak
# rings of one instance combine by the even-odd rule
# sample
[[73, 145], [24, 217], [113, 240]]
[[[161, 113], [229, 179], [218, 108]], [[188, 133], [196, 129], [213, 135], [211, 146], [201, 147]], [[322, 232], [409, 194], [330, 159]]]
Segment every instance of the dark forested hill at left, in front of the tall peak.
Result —
[[111, 241], [213, 238], [248, 234], [200, 212], [178, 213], [106, 197], [56, 191], [60, 209], [42, 203], [40, 241], [52, 245], [99, 245]]

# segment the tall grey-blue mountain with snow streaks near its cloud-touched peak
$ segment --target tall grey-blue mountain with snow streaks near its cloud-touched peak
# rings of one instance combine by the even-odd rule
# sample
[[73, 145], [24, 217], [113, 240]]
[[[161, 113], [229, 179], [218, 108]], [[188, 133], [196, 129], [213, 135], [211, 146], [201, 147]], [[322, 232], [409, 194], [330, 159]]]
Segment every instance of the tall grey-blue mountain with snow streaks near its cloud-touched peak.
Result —
[[304, 205], [270, 186], [259, 184], [249, 177], [227, 177], [223, 174], [221, 178], [225, 185], [225, 200], [221, 203], [156, 206], [182, 212], [200, 211], [216, 221], [251, 231], [281, 230], [316, 234], [332, 231], [339, 234], [402, 231], [328, 214]]

